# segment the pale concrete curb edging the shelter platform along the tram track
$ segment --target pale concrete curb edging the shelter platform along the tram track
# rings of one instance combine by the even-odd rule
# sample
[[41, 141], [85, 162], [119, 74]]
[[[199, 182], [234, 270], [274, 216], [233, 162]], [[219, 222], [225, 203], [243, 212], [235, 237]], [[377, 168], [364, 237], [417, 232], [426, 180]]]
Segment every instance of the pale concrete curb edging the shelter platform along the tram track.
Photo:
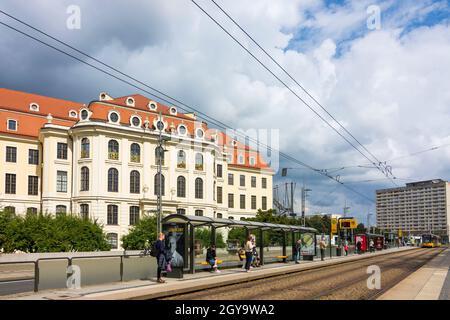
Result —
[[380, 251], [372, 254], [364, 254], [351, 257], [340, 257], [332, 260], [317, 261], [308, 264], [290, 265], [276, 267], [273, 269], [255, 270], [250, 273], [226, 274], [218, 277], [206, 277], [200, 279], [189, 279], [178, 282], [172, 282], [161, 285], [149, 285], [141, 288], [118, 289], [109, 292], [99, 292], [86, 294], [81, 297], [76, 297], [73, 300], [148, 300], [164, 298], [173, 295], [192, 293], [205, 289], [212, 289], [221, 286], [232, 284], [239, 284], [253, 280], [269, 278], [279, 275], [291, 274], [299, 271], [307, 271], [320, 269], [324, 267], [350, 263], [352, 261], [369, 259], [376, 256], [390, 255], [398, 252], [418, 249], [415, 247], [407, 247], [397, 250]]

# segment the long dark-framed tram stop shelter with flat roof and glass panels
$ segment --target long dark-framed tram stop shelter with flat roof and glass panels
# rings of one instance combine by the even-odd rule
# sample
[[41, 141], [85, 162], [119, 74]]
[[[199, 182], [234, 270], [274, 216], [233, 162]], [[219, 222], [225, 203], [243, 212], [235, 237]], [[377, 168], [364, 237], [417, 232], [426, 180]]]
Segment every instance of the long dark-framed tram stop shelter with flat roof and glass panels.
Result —
[[[258, 236], [259, 255], [261, 264], [264, 264], [264, 239], [265, 231], [282, 232], [282, 256], [286, 262], [287, 235], [291, 234], [292, 253], [295, 248], [295, 235], [306, 234], [308, 237], [308, 246], [304, 244], [306, 251], [302, 251], [304, 259], [312, 260], [317, 254], [316, 234], [318, 231], [314, 228], [307, 228], [297, 225], [283, 225], [258, 221], [232, 220], [223, 218], [210, 218], [205, 216], [189, 216], [183, 214], [171, 214], [164, 217], [161, 221], [162, 231], [166, 234], [166, 243], [172, 252], [172, 267], [181, 269], [189, 273], [195, 273], [195, 228], [209, 227], [211, 230], [211, 244], [216, 243], [216, 230], [220, 228], [244, 228], [247, 235], [250, 233]], [[258, 244], [257, 244], [258, 245]]]

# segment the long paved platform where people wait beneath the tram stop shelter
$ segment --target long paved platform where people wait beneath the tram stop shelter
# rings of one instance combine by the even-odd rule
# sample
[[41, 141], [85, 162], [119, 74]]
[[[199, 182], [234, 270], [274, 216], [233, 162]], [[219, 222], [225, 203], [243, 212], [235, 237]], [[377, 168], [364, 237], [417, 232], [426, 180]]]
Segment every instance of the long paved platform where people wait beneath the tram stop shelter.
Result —
[[136, 280], [116, 282], [104, 285], [86, 286], [81, 289], [46, 290], [38, 293], [21, 293], [2, 296], [0, 299], [26, 299], [26, 300], [121, 300], [121, 299], [155, 299], [174, 294], [182, 294], [197, 290], [220, 287], [223, 285], [257, 280], [270, 276], [288, 274], [300, 270], [310, 270], [329, 265], [338, 265], [354, 260], [366, 259], [377, 255], [392, 254], [395, 252], [414, 250], [412, 247], [401, 247], [383, 250], [363, 255], [350, 255], [347, 257], [326, 258], [325, 261], [301, 261], [300, 264], [271, 263], [260, 268], [245, 272], [242, 268], [224, 269], [221, 273], [207, 271], [185, 274], [183, 279], [166, 278], [165, 284], [153, 280]]

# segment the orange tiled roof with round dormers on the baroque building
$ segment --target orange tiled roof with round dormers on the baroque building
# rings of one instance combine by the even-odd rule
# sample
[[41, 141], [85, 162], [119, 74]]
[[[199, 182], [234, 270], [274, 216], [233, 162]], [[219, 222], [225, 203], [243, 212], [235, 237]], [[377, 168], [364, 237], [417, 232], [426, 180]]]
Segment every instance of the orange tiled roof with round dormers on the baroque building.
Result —
[[[127, 104], [128, 98], [134, 99], [134, 106]], [[142, 119], [142, 124], [148, 120], [153, 125], [153, 120], [157, 118], [159, 112], [163, 114], [164, 121], [167, 122], [169, 131], [171, 128], [177, 128], [178, 125], [184, 124], [187, 127], [189, 135], [195, 134], [195, 129], [201, 126], [205, 131], [205, 138], [211, 140], [213, 136], [217, 137], [217, 143], [220, 147], [226, 147], [228, 153], [233, 154], [231, 164], [237, 167], [253, 167], [253, 168], [269, 168], [261, 155], [252, 150], [249, 146], [234, 141], [229, 135], [224, 132], [208, 129], [206, 123], [199, 122], [193, 116], [184, 114], [177, 110], [177, 114], [170, 113], [170, 107], [157, 102], [157, 110], [150, 110], [148, 105], [152, 100], [140, 94], [131, 96], [124, 96], [113, 98], [112, 100], [94, 101], [89, 105], [92, 112], [91, 119], [107, 121], [108, 113], [111, 107], [107, 104], [112, 104], [120, 109], [121, 124], [129, 125], [130, 118], [133, 115], [138, 115]], [[102, 102], [106, 103], [103, 104]], [[39, 105], [38, 111], [30, 111], [30, 104], [36, 103]], [[28, 137], [38, 137], [40, 129], [47, 123], [47, 116], [51, 114], [53, 117], [53, 124], [73, 126], [78, 118], [69, 117], [69, 112], [74, 110], [79, 113], [84, 104], [79, 102], [67, 101], [62, 99], [50, 98], [32, 93], [15, 91], [10, 89], [0, 88], [0, 132], [23, 135]], [[6, 130], [6, 122], [8, 119], [18, 120], [17, 132]], [[238, 164], [239, 155], [244, 156], [245, 164]], [[255, 157], [255, 165], [250, 165], [250, 156]]]

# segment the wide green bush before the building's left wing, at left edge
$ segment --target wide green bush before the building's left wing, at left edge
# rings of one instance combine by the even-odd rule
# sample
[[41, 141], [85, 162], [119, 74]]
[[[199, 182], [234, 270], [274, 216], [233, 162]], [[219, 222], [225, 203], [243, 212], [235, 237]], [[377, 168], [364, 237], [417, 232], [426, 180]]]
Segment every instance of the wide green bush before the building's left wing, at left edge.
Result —
[[104, 251], [111, 246], [95, 221], [72, 215], [14, 216], [0, 212], [0, 248], [5, 253]]

